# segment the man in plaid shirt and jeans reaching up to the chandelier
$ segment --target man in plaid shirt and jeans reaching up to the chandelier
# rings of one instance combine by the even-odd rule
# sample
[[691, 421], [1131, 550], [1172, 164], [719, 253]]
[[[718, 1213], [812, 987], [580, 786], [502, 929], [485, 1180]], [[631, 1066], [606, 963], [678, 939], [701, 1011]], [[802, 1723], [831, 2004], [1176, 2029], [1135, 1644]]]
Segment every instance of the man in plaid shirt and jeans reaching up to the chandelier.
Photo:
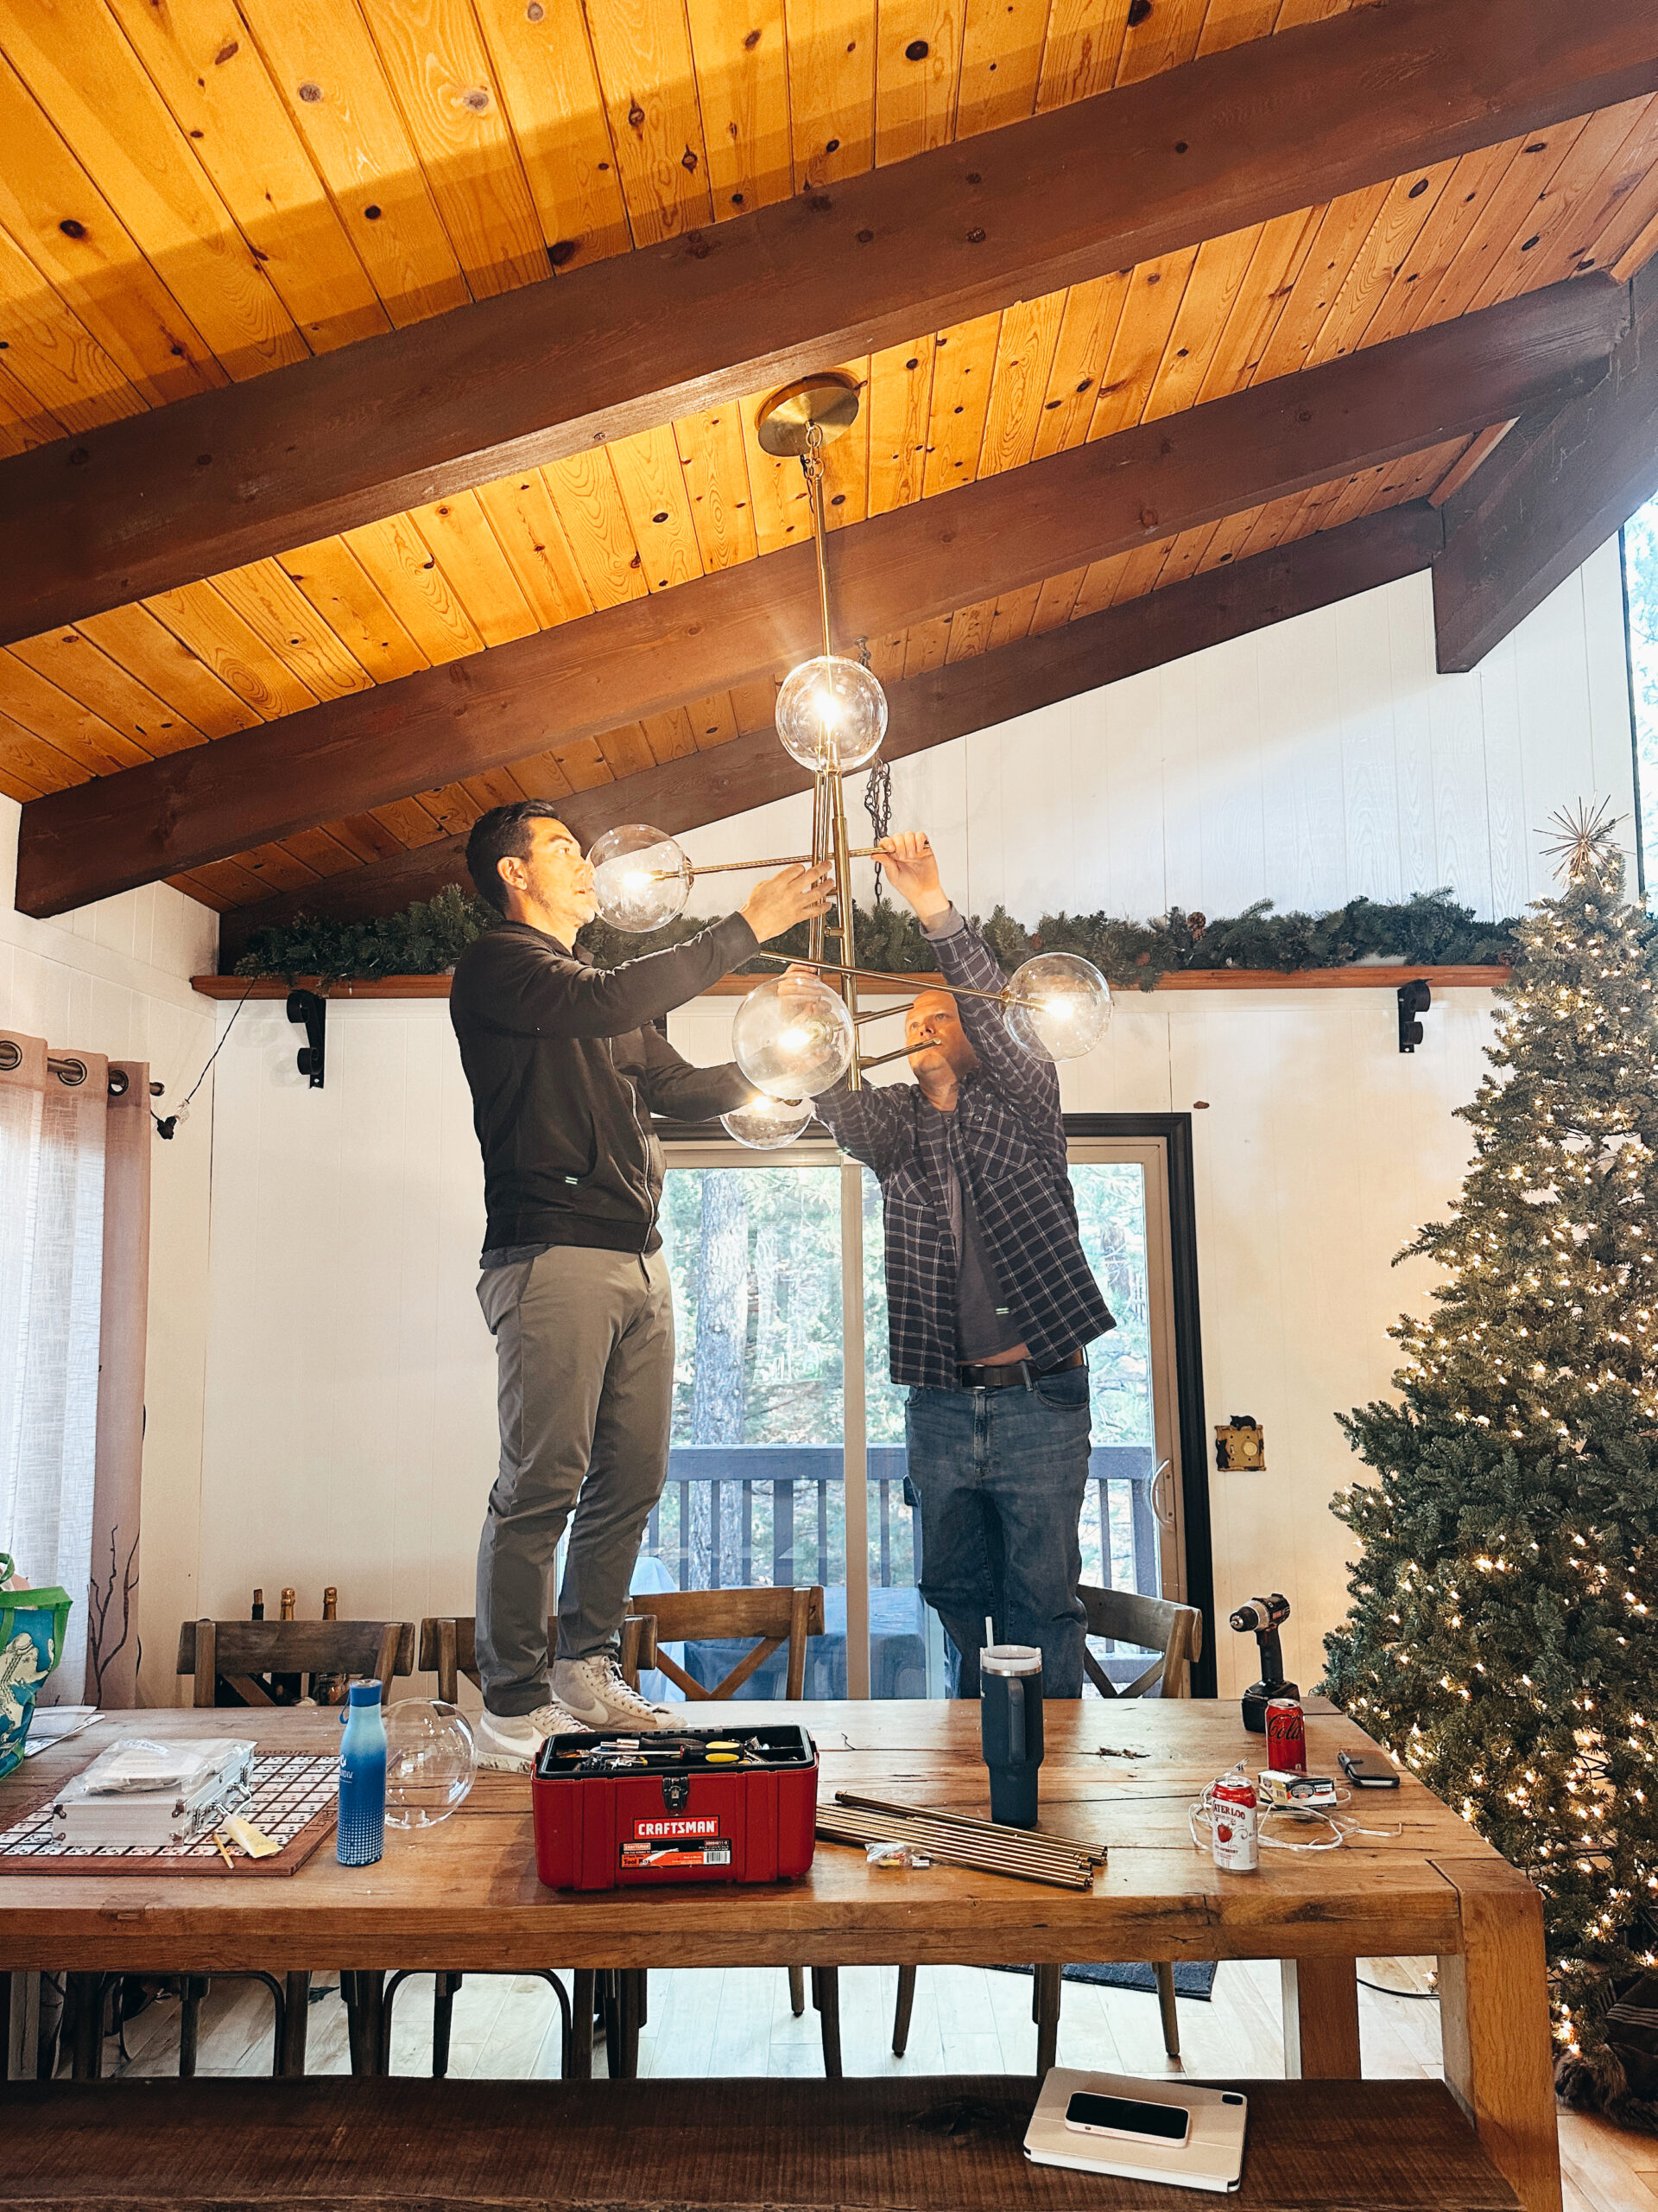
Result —
[[[928, 841], [904, 832], [878, 854], [944, 980], [1001, 991], [995, 956], [940, 889]], [[904, 1042], [915, 1088], [838, 1088], [816, 1108], [880, 1177], [886, 1206], [922, 1597], [944, 1621], [951, 1697], [979, 1694], [986, 1615], [999, 1639], [1041, 1648], [1046, 1697], [1081, 1697], [1083, 1345], [1114, 1323], [1077, 1232], [1059, 1077], [984, 998], [924, 991]]]

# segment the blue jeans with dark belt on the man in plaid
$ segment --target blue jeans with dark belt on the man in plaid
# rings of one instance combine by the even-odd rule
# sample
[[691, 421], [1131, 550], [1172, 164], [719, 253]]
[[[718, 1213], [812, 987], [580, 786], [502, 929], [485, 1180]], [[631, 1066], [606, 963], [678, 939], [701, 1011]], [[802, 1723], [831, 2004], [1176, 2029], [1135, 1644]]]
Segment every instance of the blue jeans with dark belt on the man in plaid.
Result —
[[979, 1694], [986, 1613], [999, 1641], [1041, 1648], [1043, 1697], [1081, 1697], [1088, 1369], [1028, 1389], [911, 1389], [904, 1433], [951, 1697]]

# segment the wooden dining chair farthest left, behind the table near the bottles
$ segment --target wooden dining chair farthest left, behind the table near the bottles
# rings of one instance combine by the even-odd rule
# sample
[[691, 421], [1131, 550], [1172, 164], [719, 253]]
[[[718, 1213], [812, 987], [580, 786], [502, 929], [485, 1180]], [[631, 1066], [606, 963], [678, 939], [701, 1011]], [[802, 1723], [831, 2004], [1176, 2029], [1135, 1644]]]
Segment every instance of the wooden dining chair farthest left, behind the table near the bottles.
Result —
[[[175, 1674], [190, 1679], [190, 1703], [206, 1710], [219, 1703], [219, 1683], [241, 1699], [241, 1708], [276, 1708], [267, 1681], [272, 1674], [374, 1674], [380, 1699], [391, 1697], [398, 1674], [413, 1672], [411, 1621], [181, 1621]], [[263, 1679], [261, 1679], [263, 1677]], [[241, 1710], [228, 1708], [228, 1710]], [[221, 1980], [263, 1982], [276, 2013], [272, 2073], [305, 2073], [305, 2028], [309, 2020], [312, 1975], [290, 1973], [281, 1982], [272, 1973], [221, 1975]], [[179, 2073], [197, 2070], [197, 2037], [201, 2000], [212, 1989], [212, 1975], [179, 1975]]]

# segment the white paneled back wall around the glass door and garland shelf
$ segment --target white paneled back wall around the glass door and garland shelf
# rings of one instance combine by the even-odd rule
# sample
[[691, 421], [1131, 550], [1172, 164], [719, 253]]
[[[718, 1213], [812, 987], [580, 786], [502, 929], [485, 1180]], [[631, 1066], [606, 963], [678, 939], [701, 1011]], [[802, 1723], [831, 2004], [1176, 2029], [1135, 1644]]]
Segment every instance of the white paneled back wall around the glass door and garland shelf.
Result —
[[[1631, 803], [1616, 549], [1475, 677], [1433, 672], [1426, 577], [1119, 684], [895, 768], [964, 907], [1207, 914], [1329, 907], [1448, 883], [1483, 914], [1545, 889], [1534, 827], [1592, 792]], [[796, 801], [696, 832], [699, 858], [798, 852]], [[221, 1009], [221, 1022], [223, 1022]], [[674, 1018], [725, 1057], [732, 1002]], [[1333, 1413], [1384, 1391], [1391, 1259], [1466, 1161], [1452, 1108], [1490, 995], [1448, 993], [1415, 1057], [1391, 991], [1130, 993], [1066, 1068], [1066, 1104], [1194, 1110], [1209, 1420], [1256, 1413], [1271, 1473], [1211, 1475], [1216, 1597], [1284, 1588], [1318, 1679], [1351, 1458]], [[327, 1088], [250, 1006], [217, 1071], [201, 1599], [325, 1582], [349, 1610], [471, 1610], [493, 1354], [473, 1301], [482, 1177], [433, 1002], [336, 1004]], [[1198, 1106], [1198, 1102], [1207, 1106]], [[1222, 1686], [1251, 1674], [1227, 1637]]]

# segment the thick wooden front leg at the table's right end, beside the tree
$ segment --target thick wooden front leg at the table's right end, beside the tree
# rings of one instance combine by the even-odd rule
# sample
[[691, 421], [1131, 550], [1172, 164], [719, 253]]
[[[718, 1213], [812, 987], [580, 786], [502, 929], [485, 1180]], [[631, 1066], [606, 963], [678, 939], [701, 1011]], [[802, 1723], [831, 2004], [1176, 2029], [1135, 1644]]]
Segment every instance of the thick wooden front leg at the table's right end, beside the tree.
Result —
[[1561, 2212], [1543, 1900], [1494, 1858], [1435, 1867], [1457, 1889], [1463, 1936], [1439, 1960], [1446, 2084], [1525, 2212]]

